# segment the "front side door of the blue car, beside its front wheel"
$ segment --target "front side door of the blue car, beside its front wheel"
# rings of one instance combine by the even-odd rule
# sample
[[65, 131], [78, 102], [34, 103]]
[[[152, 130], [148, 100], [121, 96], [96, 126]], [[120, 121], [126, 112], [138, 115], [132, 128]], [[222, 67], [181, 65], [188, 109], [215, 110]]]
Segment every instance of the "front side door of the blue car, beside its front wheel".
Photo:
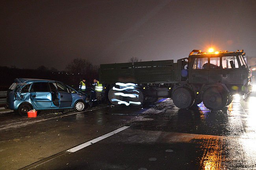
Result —
[[56, 82], [59, 91], [59, 108], [70, 107], [72, 105], [72, 95], [68, 92], [67, 86], [61, 82]]

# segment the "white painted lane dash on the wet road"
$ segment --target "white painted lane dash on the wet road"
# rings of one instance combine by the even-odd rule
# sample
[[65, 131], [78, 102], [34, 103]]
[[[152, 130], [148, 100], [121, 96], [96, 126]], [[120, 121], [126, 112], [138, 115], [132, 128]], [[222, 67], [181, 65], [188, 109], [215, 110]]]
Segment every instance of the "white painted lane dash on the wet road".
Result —
[[107, 138], [107, 137], [109, 137], [109, 136], [112, 136], [112, 135], [114, 135], [114, 134], [117, 134], [118, 132], [121, 132], [122, 130], [124, 130], [124, 129], [126, 129], [126, 128], [129, 128], [129, 126], [121, 127], [121, 128], [119, 128], [119, 129], [117, 129], [117, 130], [114, 130], [114, 131], [112, 131], [112, 132], [109, 132], [108, 134], [102, 135], [102, 136], [100, 136], [100, 137], [97, 137], [96, 139], [93, 139], [93, 140], [91, 140], [91, 141], [85, 142], [85, 143], [83, 143], [83, 144], [81, 144], [81, 145], [78, 145], [78, 146], [76, 146], [76, 147], [74, 147], [74, 148], [71, 148], [71, 149], [67, 150], [67, 152], [76, 152], [76, 151], [78, 151], [78, 150], [80, 150], [80, 149], [82, 149], [82, 148], [85, 148], [85, 147], [87, 147], [87, 146], [89, 146], [89, 145], [91, 145], [91, 144], [94, 144], [94, 143], [96, 143], [96, 142], [98, 142], [98, 141], [101, 141], [102, 139], [105, 139], [105, 138]]

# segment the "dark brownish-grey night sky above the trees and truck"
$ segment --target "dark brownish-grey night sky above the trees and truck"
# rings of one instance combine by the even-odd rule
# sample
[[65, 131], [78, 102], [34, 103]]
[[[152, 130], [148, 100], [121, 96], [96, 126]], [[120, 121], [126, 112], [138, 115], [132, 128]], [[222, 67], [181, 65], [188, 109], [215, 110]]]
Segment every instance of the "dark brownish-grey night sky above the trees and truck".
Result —
[[210, 46], [256, 56], [256, 0], [2, 0], [0, 10], [0, 66], [176, 62]]

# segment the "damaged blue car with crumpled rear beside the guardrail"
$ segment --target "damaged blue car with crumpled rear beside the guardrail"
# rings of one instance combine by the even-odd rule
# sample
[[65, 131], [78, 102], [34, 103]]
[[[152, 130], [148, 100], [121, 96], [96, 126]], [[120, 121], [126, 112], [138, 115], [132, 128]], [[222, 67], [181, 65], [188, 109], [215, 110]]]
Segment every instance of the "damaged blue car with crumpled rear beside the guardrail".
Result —
[[7, 91], [6, 108], [21, 116], [35, 110], [74, 109], [81, 112], [86, 109], [87, 95], [54, 80], [16, 78]]

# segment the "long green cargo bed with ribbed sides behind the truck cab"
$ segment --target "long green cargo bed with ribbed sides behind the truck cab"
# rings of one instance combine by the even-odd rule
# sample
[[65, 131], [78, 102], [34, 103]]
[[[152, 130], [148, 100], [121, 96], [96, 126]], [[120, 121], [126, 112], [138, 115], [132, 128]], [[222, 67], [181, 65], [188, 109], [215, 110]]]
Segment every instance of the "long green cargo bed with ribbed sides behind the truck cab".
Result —
[[173, 60], [100, 65], [100, 83], [173, 83]]

